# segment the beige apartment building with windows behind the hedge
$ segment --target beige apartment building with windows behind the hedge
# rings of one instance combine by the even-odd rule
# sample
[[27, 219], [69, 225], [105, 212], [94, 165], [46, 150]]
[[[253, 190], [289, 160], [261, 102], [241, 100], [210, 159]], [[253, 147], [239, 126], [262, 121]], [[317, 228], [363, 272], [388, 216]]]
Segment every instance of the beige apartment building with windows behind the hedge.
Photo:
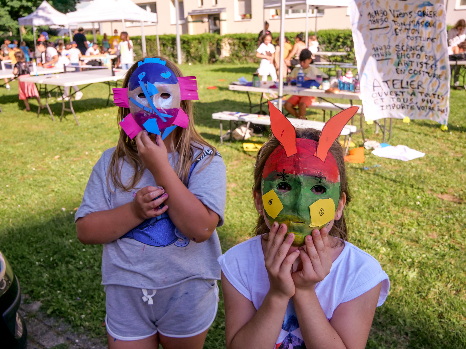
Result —
[[[147, 11], [158, 14], [158, 26], [146, 23], [146, 35], [175, 34], [176, 17], [175, 1], [133, 0]], [[264, 21], [269, 22], [269, 30], [280, 31], [281, 13], [279, 10], [264, 10], [263, 0], [180, 0], [179, 23], [182, 34], [234, 34], [259, 33]], [[305, 10], [289, 9], [285, 13], [285, 28], [287, 31], [305, 30]], [[325, 11], [309, 10], [309, 30], [314, 29], [317, 19], [318, 29], [346, 29], [350, 28], [349, 15], [346, 8], [326, 9]], [[140, 35], [139, 22], [126, 22], [126, 31], [131, 35]], [[103, 23], [100, 33], [110, 34], [114, 29], [123, 30], [122, 23]]]

